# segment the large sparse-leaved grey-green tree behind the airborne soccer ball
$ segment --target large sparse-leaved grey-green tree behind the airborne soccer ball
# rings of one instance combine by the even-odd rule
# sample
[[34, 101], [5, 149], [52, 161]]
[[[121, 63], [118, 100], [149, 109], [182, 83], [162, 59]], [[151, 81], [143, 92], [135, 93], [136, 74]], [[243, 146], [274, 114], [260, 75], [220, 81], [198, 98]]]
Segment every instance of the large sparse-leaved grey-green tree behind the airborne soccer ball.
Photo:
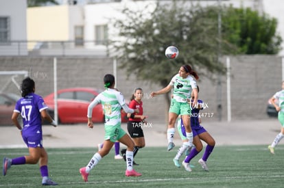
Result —
[[[115, 18], [114, 27], [119, 28], [120, 42], [111, 41], [110, 51], [119, 52], [115, 57], [120, 67], [126, 68], [128, 76], [159, 83], [165, 87], [171, 77], [184, 64], [190, 64], [198, 75], [209, 76], [224, 72], [224, 66], [217, 62], [218, 38], [217, 16], [209, 17], [206, 8], [186, 2], [156, 2], [151, 12], [124, 8], [123, 18]], [[190, 7], [190, 8], [189, 8]], [[215, 10], [215, 15], [218, 10]], [[177, 59], [165, 57], [167, 46], [177, 46]], [[232, 54], [235, 46], [222, 42], [222, 54]], [[166, 96], [166, 95], [165, 95]], [[166, 96], [169, 105], [169, 96]]]

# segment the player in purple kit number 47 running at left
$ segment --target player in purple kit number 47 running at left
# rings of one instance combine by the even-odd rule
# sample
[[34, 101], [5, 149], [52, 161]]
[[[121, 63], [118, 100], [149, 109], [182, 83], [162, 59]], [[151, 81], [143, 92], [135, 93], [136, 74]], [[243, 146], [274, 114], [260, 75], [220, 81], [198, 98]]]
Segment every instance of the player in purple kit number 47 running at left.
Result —
[[[4, 157], [3, 175], [5, 176], [7, 174], [7, 170], [12, 165], [36, 164], [39, 161], [40, 174], [43, 177], [42, 185], [58, 185], [49, 178], [47, 169], [48, 157], [45, 148], [43, 148], [41, 118], [47, 120], [47, 122], [50, 122], [53, 126], [56, 126], [57, 124], [47, 113], [46, 109], [48, 107], [45, 105], [43, 98], [34, 93], [35, 90], [34, 80], [29, 77], [23, 79], [21, 84], [23, 98], [20, 98], [16, 102], [16, 106], [12, 114], [12, 121], [21, 131], [23, 141], [29, 148], [29, 155], [14, 159]], [[23, 128], [18, 121], [18, 116], [20, 114], [23, 118]]]

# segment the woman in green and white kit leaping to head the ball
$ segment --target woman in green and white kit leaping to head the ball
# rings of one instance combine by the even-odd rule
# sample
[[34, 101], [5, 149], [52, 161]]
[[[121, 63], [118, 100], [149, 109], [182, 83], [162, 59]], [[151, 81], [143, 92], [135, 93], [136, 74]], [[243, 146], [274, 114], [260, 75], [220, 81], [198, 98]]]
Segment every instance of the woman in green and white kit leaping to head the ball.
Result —
[[193, 134], [190, 126], [191, 107], [187, 101], [191, 98], [191, 92], [193, 92], [194, 100], [192, 105], [195, 106], [198, 103], [197, 79], [198, 75], [192, 70], [191, 66], [184, 65], [180, 67], [178, 74], [171, 79], [167, 87], [150, 94], [150, 96], [154, 97], [174, 89], [173, 97], [171, 98], [171, 106], [169, 107], [169, 124], [167, 129], [167, 140], [169, 144], [167, 150], [171, 150], [175, 146], [173, 142], [175, 133], [174, 124], [176, 123], [178, 115], [182, 116], [182, 121], [185, 125], [186, 135], [189, 141], [187, 144], [189, 147], [192, 146]]

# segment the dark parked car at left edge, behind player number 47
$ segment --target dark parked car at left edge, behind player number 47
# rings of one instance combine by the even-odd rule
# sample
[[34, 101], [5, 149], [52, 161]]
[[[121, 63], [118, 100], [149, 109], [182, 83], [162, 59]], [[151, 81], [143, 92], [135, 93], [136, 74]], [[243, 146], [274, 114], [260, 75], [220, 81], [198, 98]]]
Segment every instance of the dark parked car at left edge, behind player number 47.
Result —
[[13, 124], [11, 117], [16, 105], [16, 101], [21, 96], [12, 93], [0, 93], [0, 125]]

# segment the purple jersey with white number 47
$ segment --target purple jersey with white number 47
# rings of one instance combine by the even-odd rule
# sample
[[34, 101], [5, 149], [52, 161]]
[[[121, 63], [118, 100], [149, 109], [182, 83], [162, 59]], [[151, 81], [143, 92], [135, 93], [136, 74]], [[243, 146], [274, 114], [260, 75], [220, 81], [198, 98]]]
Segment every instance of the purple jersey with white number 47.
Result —
[[47, 108], [43, 98], [34, 93], [30, 93], [16, 102], [14, 111], [21, 113], [23, 133], [42, 133], [40, 111]]

